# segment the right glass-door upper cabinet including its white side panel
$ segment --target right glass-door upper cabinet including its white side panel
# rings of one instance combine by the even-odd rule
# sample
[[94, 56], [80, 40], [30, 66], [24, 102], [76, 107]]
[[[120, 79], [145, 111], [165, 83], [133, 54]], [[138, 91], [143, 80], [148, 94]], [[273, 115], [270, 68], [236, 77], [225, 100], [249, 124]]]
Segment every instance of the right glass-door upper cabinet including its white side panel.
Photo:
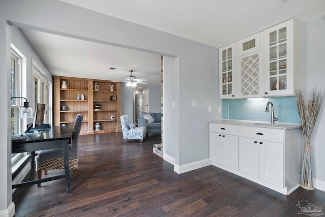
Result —
[[295, 95], [301, 85], [301, 28], [291, 19], [264, 30], [265, 96]]

